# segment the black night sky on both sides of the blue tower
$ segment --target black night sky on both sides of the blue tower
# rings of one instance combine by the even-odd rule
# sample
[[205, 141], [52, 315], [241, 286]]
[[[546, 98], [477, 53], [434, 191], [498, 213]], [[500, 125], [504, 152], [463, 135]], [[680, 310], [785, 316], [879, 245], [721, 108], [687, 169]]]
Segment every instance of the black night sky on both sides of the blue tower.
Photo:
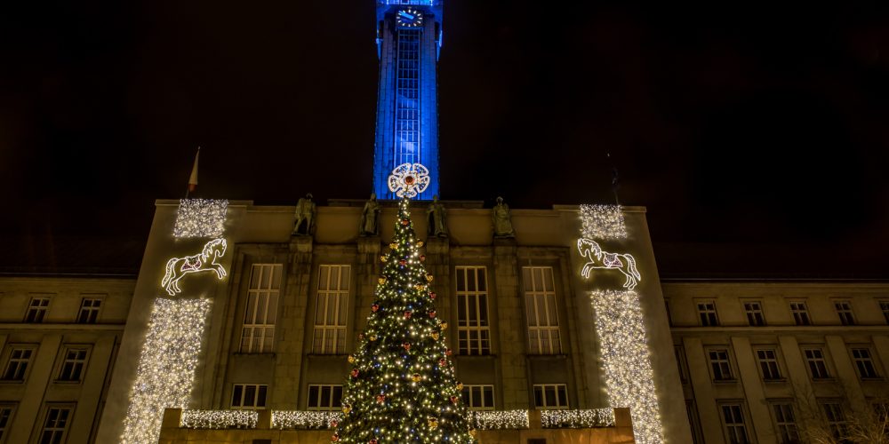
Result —
[[[889, 278], [889, 11], [724, 3], [449, 0], [442, 198], [611, 203], [613, 163], [661, 274]], [[366, 197], [351, 4], [0, 6], [2, 265], [134, 269], [197, 146], [200, 196]]]

